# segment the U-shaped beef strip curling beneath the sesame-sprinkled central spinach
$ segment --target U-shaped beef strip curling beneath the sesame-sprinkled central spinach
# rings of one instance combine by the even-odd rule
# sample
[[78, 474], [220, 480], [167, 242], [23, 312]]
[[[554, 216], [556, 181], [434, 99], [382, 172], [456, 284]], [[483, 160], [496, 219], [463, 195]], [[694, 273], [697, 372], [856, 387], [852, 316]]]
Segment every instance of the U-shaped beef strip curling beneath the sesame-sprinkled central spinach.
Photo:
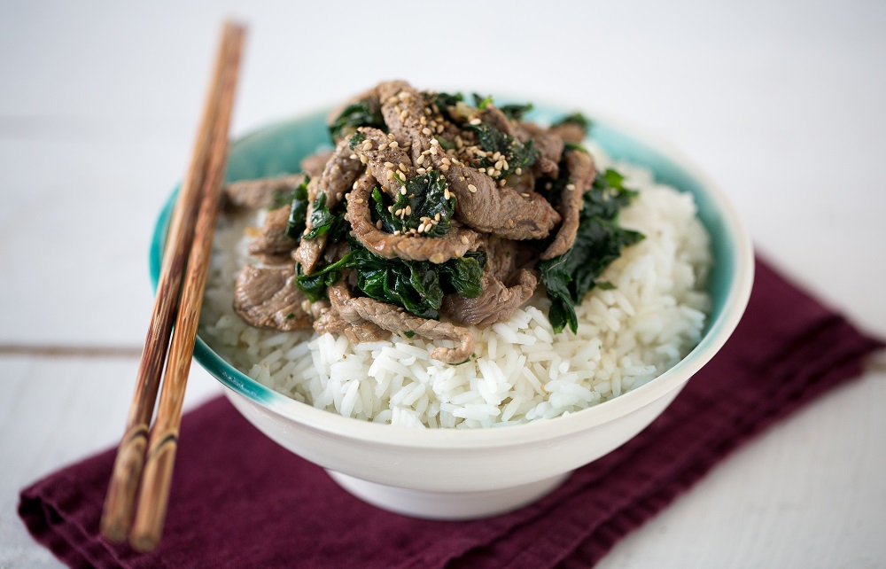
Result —
[[387, 259], [399, 257], [408, 261], [441, 263], [462, 257], [477, 242], [476, 231], [455, 223], [441, 238], [393, 235], [377, 229], [369, 210], [369, 195], [375, 183], [375, 177], [367, 172], [361, 175], [347, 196], [347, 219], [354, 229], [354, 237], [369, 251]]

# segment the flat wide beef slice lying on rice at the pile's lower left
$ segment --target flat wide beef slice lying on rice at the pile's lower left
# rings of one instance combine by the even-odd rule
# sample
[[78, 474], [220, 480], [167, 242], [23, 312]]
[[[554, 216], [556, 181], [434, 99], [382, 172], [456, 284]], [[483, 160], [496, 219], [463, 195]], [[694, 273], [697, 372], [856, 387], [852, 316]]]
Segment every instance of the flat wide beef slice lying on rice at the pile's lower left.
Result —
[[246, 265], [234, 284], [234, 311], [259, 328], [292, 331], [310, 328], [307, 298], [295, 286], [295, 267]]

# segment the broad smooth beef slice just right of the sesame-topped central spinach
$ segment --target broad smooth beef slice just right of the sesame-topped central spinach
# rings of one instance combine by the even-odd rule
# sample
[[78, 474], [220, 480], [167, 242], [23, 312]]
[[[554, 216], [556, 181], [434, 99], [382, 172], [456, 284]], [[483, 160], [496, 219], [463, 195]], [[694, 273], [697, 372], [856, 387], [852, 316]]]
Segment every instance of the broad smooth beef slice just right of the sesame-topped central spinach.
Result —
[[[435, 157], [435, 163], [441, 159]], [[540, 194], [501, 187], [474, 168], [452, 164], [444, 172], [455, 193], [455, 217], [471, 228], [508, 239], [540, 239], [560, 215]]]

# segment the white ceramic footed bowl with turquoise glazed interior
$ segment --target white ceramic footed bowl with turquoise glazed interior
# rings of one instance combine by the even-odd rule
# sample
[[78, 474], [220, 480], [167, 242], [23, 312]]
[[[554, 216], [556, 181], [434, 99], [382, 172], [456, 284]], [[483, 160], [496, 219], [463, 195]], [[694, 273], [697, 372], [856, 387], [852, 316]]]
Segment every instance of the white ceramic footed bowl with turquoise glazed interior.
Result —
[[[531, 118], [543, 123], [563, 114], [537, 105]], [[649, 136], [586, 114], [595, 125], [595, 142], [612, 158], [644, 165], [659, 181], [694, 194], [711, 233], [715, 265], [707, 330], [698, 346], [660, 377], [566, 417], [487, 430], [423, 430], [363, 422], [293, 401], [234, 369], [202, 339], [195, 358], [262, 433], [385, 510], [421, 518], [479, 518], [546, 495], [572, 471], [618, 448], [661, 414], [734, 331], [750, 296], [753, 272], [750, 238], [722, 191]], [[281, 121], [238, 140], [230, 152], [228, 178], [299, 171], [302, 157], [329, 145], [324, 116], [318, 112]], [[155, 283], [171, 207], [172, 199], [154, 236]]]

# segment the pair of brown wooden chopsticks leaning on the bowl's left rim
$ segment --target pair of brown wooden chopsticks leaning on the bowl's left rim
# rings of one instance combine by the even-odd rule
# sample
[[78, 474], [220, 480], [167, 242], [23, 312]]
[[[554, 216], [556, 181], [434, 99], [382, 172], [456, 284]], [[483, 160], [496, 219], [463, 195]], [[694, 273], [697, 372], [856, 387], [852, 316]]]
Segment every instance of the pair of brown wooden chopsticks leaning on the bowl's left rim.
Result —
[[[221, 201], [244, 36], [244, 27], [224, 24], [190, 167], [167, 234], [136, 393], [105, 497], [102, 534], [112, 542], [128, 539], [139, 551], [154, 550], [163, 533], [184, 391]], [[162, 392], [151, 426], [161, 375]]]

